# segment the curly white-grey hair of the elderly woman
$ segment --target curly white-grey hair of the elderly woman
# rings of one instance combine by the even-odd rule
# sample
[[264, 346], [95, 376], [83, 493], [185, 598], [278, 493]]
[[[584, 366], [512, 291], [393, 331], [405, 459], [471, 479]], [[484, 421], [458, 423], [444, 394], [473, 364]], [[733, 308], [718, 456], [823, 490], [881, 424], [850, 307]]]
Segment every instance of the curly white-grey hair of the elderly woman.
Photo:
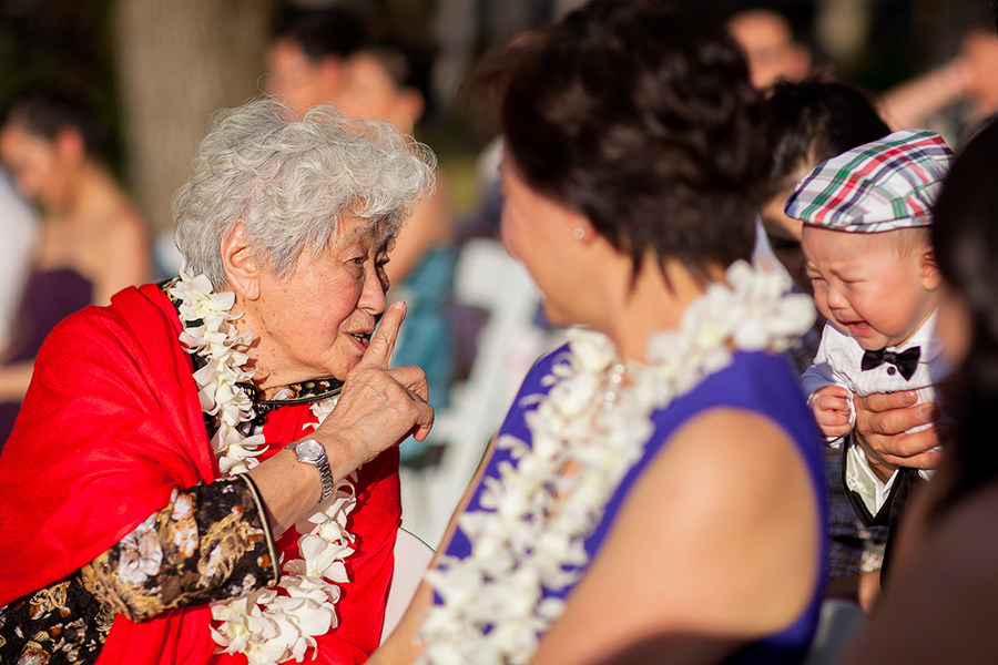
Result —
[[304, 252], [335, 244], [347, 215], [394, 237], [432, 195], [435, 167], [427, 146], [387, 123], [332, 106], [298, 119], [278, 99], [256, 98], [216, 113], [194, 151], [191, 180], [173, 196], [176, 245], [190, 273], [222, 288], [221, 243], [242, 219], [254, 256], [283, 276]]

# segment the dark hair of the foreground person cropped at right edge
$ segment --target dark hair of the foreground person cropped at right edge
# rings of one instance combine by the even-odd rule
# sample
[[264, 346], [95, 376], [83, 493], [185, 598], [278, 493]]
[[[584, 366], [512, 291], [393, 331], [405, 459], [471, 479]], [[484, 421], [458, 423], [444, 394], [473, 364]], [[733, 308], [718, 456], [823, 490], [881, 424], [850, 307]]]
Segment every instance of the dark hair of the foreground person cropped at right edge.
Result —
[[998, 473], [998, 121], [957, 155], [934, 209], [931, 234], [939, 270], [970, 308], [970, 350], [948, 386], [956, 417], [947, 463], [955, 473], [940, 507], [949, 507]]

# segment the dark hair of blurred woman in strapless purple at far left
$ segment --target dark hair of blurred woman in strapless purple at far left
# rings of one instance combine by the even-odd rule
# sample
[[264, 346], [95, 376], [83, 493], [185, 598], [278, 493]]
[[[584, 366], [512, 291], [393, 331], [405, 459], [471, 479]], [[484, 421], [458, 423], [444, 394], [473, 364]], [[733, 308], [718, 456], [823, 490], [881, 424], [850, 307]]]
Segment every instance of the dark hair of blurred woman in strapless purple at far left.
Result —
[[54, 141], [63, 130], [83, 139], [86, 154], [105, 158], [110, 139], [96, 106], [78, 91], [34, 88], [14, 95], [3, 110], [3, 125], [18, 126], [29, 134]]

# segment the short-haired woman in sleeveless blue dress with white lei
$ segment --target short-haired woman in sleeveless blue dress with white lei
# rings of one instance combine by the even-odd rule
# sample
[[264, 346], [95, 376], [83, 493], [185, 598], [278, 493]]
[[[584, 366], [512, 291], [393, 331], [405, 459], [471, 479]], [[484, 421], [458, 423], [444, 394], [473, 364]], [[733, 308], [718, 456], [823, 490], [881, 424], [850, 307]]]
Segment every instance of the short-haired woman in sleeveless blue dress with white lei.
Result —
[[527, 376], [373, 662], [594, 663], [663, 634], [707, 638], [690, 662], [800, 662], [824, 472], [767, 351], [814, 314], [745, 262], [768, 162], [741, 52], [597, 0], [499, 58], [502, 238], [548, 318], [589, 330]]

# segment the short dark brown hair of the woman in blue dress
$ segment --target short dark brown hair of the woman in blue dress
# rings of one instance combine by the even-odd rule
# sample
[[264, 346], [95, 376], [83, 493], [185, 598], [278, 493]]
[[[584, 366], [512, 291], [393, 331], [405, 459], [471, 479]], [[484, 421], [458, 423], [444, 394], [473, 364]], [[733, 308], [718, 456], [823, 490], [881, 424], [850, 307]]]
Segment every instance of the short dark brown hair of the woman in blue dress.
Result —
[[512, 164], [635, 273], [650, 250], [701, 279], [751, 255], [764, 109], [721, 27], [651, 0], [597, 0], [499, 58]]

